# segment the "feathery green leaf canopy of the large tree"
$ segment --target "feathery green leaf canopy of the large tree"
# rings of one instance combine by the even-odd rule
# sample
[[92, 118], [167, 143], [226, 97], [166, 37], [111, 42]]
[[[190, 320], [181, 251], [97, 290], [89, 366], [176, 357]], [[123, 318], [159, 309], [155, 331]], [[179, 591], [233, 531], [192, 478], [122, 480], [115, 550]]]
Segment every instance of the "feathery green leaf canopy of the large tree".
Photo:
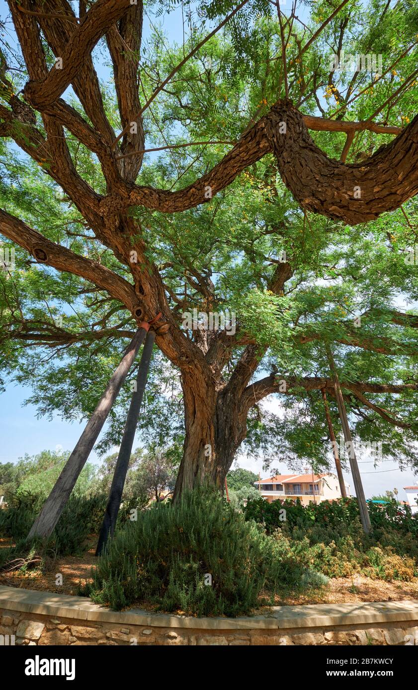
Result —
[[[418, 112], [418, 79], [415, 75], [409, 80], [416, 69], [417, 2], [406, 0], [391, 6], [386, 0], [350, 0], [301, 59], [299, 53], [308, 37], [316, 34], [337, 4], [309, 0], [303, 3], [303, 15], [298, 12], [298, 18], [285, 26], [286, 35], [289, 29], [289, 98], [301, 112], [325, 119], [372, 118], [381, 124], [407, 126]], [[169, 40], [164, 28], [158, 26], [165, 13], [182, 12], [178, 0], [148, 3], [151, 30], [140, 56], [141, 99], [144, 93], [155, 90], [163, 75], [168, 75], [234, 4], [214, 0], [203, 5], [187, 2], [184, 7], [189, 35], [186, 32], [183, 45], [183, 41]], [[381, 79], [376, 80], [370, 69], [355, 75], [347, 69], [330, 73], [330, 56], [340, 42], [346, 54], [382, 55], [385, 72]], [[7, 54], [2, 76], [19, 92], [28, 79], [24, 60], [19, 50], [11, 47], [9, 37], [4, 43]], [[104, 39], [97, 50], [102, 50], [106, 65], [111, 62]], [[51, 51], [47, 57], [52, 66]], [[6, 65], [12, 69], [7, 70]], [[137, 184], [173, 191], [192, 184], [230, 150], [229, 144], [198, 146], [193, 142], [237, 141], [248, 126], [285, 96], [284, 76], [274, 3], [253, 0], [176, 72], [152, 108], [145, 110], [147, 148], [166, 141], [187, 147], [145, 155]], [[108, 81], [101, 85], [104, 109], [117, 130], [120, 113], [114, 85]], [[0, 97], [3, 107], [8, 108], [10, 92], [3, 87]], [[84, 117], [79, 101], [68, 100]], [[42, 130], [39, 115], [37, 119]], [[340, 158], [343, 132], [310, 134], [328, 156]], [[392, 135], [357, 132], [348, 162], [361, 161], [389, 141]], [[77, 174], [97, 193], [106, 193], [97, 158], [68, 130], [66, 144]], [[68, 197], [46, 170], [17, 150], [10, 139], [0, 142], [0, 166], [2, 208], [44, 237], [70, 246], [75, 254], [99, 261], [132, 282], [126, 264], [97, 240], [89, 219], [82, 217], [76, 205], [68, 204]], [[183, 306], [207, 309], [210, 288], [213, 311], [235, 308], [240, 331], [266, 348], [259, 372], [274, 371], [275, 367], [283, 380], [327, 377], [323, 344], [334, 342], [342, 382], [373, 380], [388, 386], [417, 382], [417, 328], [393, 322], [390, 317], [391, 311], [399, 310], [399, 302], [406, 304], [408, 313], [416, 312], [418, 269], [407, 266], [404, 259], [406, 248], [417, 244], [417, 197], [403, 204], [402, 210], [352, 228], [299, 208], [278, 177], [276, 161], [266, 155], [198, 208], [175, 214], [142, 207], [130, 211], [140, 223], [139, 239], [153, 264], [149, 270], [164, 267], [160, 268], [161, 279], [178, 324]], [[8, 240], [6, 245], [11, 247]], [[52, 416], [59, 411], [65, 420], [86, 419], [120, 358], [129, 337], [126, 333], [135, 329], [133, 317], [120, 302], [86, 279], [35, 264], [26, 250], [15, 249], [16, 270], [11, 277], [0, 272], [0, 326], [5, 334], [0, 342], [0, 386], [9, 380], [29, 382], [29, 402], [40, 414]], [[276, 294], [272, 281], [283, 250], [292, 275]], [[178, 308], [180, 296], [182, 306]], [[361, 325], [353, 335], [352, 322], [360, 314]], [[62, 324], [57, 328], [59, 317]], [[54, 334], [56, 342], [51, 341]], [[225, 380], [243, 353], [239, 342], [238, 337], [222, 371]], [[135, 373], [133, 369], [109, 415], [99, 443], [103, 453], [120, 442]], [[362, 408], [355, 395], [348, 393], [346, 406], [354, 440], [382, 442], [383, 455], [401, 465], [417, 466], [415, 391], [372, 393], [370, 397], [376, 408], [390, 410], [402, 426], [388, 422], [375, 408]], [[285, 408], [283, 417], [262, 406], [250, 409], [245, 450], [261, 451], [276, 457], [277, 462], [303, 459], [325, 469], [332, 455], [321, 393], [306, 395], [296, 384], [280, 395], [280, 402]], [[333, 400], [330, 408], [339, 428]], [[146, 443], [181, 444], [182, 412], [178, 373], [156, 351], [140, 421]], [[35, 481], [30, 480], [31, 487]]]

